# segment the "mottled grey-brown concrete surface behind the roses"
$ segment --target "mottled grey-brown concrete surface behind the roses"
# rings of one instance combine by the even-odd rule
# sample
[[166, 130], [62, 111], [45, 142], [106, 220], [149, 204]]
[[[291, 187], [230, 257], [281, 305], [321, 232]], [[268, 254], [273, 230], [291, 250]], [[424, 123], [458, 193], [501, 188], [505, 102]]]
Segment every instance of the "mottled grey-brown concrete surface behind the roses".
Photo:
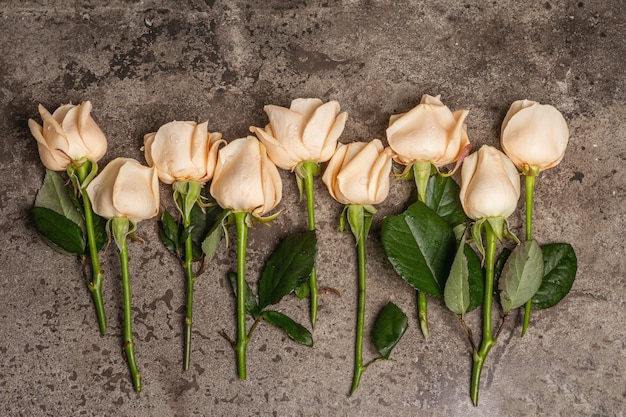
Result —
[[[106, 3], [106, 5], [104, 5]], [[0, 414], [4, 416], [623, 416], [626, 409], [626, 11], [621, 0], [547, 1], [2, 1], [0, 8]], [[249, 379], [220, 330], [234, 334], [220, 250], [199, 280], [192, 367], [181, 367], [184, 286], [156, 223], [130, 248], [134, 329], [144, 391], [121, 353], [115, 250], [103, 258], [109, 334], [100, 337], [78, 262], [51, 251], [28, 210], [43, 179], [27, 119], [91, 100], [109, 139], [101, 166], [143, 160], [143, 135], [174, 119], [209, 120], [227, 139], [266, 123], [263, 105], [338, 100], [343, 142], [383, 138], [390, 114], [423, 93], [468, 108], [470, 140], [498, 143], [510, 103], [556, 106], [571, 128], [563, 162], [538, 181], [535, 235], [567, 241], [578, 277], [557, 307], [519, 317], [490, 354], [481, 403], [469, 400], [470, 351], [443, 304], [432, 337], [418, 332], [415, 297], [384, 258], [377, 222], [368, 246], [368, 310], [388, 300], [410, 316], [393, 353], [348, 397], [355, 332], [356, 255], [336, 232], [341, 207], [317, 183], [321, 299], [315, 347], [268, 326], [249, 347]], [[477, 149], [477, 147], [475, 149]], [[292, 176], [283, 213], [250, 233], [249, 277], [273, 245], [304, 227]], [[396, 182], [380, 216], [400, 211]], [[171, 204], [170, 189], [162, 188]], [[521, 225], [520, 215], [511, 221]], [[280, 307], [306, 322], [307, 303]], [[474, 317], [476, 320], [477, 317]], [[365, 356], [374, 348], [366, 343]]]

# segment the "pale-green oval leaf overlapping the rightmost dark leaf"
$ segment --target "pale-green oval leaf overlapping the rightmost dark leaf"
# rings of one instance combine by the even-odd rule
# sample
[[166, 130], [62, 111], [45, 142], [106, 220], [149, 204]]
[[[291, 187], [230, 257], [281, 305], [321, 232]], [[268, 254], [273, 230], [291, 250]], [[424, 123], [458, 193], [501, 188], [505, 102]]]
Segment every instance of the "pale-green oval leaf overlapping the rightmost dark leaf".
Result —
[[535, 240], [520, 243], [507, 259], [498, 281], [500, 304], [507, 314], [530, 300], [543, 278], [543, 256]]

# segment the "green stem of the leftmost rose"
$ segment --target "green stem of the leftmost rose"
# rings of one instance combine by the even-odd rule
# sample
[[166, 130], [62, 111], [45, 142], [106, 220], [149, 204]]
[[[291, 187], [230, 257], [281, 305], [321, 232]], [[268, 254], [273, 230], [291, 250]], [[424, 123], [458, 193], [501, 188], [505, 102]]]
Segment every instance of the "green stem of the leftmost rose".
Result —
[[87, 195], [87, 185], [85, 183], [87, 176], [91, 171], [91, 164], [94, 162], [85, 162], [77, 170], [76, 176], [78, 178], [78, 188], [83, 200], [83, 207], [85, 212], [85, 229], [87, 232], [87, 242], [89, 244], [89, 259], [91, 260], [91, 281], [87, 283], [87, 288], [91, 293], [94, 307], [96, 309], [96, 317], [98, 319], [98, 327], [100, 334], [104, 336], [106, 334], [107, 318], [104, 312], [104, 301], [102, 298], [102, 280], [104, 274], [100, 269], [100, 261], [98, 259], [98, 248], [96, 245], [96, 232], [93, 224], [93, 210], [91, 208], [91, 201]]

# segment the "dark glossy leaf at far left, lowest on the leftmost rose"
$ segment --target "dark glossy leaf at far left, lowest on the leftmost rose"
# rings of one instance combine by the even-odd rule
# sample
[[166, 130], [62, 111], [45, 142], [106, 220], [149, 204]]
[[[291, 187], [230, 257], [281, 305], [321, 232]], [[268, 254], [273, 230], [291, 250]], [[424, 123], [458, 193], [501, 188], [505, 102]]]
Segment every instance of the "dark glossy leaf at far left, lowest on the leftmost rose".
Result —
[[85, 254], [85, 235], [76, 223], [46, 207], [33, 207], [32, 214], [37, 231], [45, 239], [65, 252]]

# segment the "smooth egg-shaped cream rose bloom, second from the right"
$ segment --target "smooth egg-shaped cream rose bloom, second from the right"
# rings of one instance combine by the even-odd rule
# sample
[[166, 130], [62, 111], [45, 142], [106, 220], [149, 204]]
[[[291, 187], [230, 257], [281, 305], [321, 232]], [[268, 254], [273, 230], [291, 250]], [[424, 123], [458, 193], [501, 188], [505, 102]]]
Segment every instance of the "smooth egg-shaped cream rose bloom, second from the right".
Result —
[[459, 197], [471, 219], [507, 218], [519, 196], [519, 173], [504, 153], [484, 145], [463, 160]]

